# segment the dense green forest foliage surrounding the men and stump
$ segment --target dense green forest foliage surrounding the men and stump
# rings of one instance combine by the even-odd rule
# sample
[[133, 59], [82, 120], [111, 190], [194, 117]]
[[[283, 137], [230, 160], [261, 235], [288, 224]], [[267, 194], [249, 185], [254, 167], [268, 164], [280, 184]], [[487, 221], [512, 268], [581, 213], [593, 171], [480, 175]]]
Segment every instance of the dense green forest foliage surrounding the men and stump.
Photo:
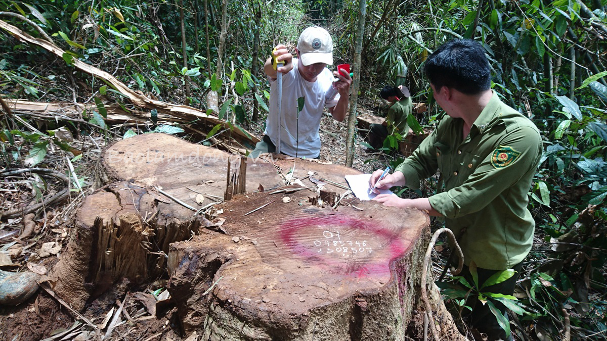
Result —
[[[560, 339], [569, 331], [574, 338], [606, 339], [606, 5], [606, 0], [0, 1], [0, 19], [42, 38], [37, 25], [66, 51], [58, 58], [2, 30], [0, 96], [92, 104], [70, 119], [18, 110], [9, 115], [3, 109], [2, 167], [59, 169], [74, 179], [77, 196], [94, 187], [90, 164], [102, 146], [79, 143], [89, 136], [110, 143], [156, 131], [211, 145], [214, 135], [233, 129], [260, 134], [270, 96], [263, 62], [276, 44], [293, 48], [310, 25], [333, 36], [334, 64], [354, 63], [351, 113], [358, 106], [381, 115], [379, 89], [403, 81], [413, 101], [429, 109], [416, 115], [413, 129], [431, 129], [441, 110], [422, 74], [423, 62], [442, 42], [476, 39], [490, 59], [493, 89], [534, 121], [544, 139], [529, 192], [537, 229], [517, 294], [517, 305], [524, 308], [515, 319], [518, 334]], [[110, 126], [104, 103], [126, 112], [135, 107], [110, 84], [75, 69], [74, 59], [149, 98], [214, 109], [229, 124], [202, 135], [186, 133], [180, 124], [160, 124], [157, 110], [147, 110], [149, 120], [136, 127]], [[361, 138], [355, 143], [364, 145]], [[402, 160], [382, 153], [353, 157], [377, 167]], [[431, 194], [435, 183], [406, 194]], [[2, 192], [4, 208], [32, 197], [42, 201], [52, 191], [37, 175], [19, 186], [26, 195]], [[456, 290], [444, 294], [460, 309], [465, 306]]]

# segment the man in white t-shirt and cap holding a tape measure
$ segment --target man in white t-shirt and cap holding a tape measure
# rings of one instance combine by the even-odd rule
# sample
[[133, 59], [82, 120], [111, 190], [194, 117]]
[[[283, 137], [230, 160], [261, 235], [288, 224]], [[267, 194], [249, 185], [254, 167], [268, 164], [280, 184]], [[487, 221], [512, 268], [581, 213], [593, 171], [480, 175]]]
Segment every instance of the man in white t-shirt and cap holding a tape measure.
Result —
[[[281, 154], [317, 158], [320, 155], [318, 131], [324, 107], [328, 107], [335, 120], [341, 122], [345, 118], [352, 78], [345, 70], [331, 73], [327, 69], [327, 65], [333, 64], [331, 35], [321, 27], [308, 27], [299, 36], [296, 52], [299, 58], [293, 58], [287, 47], [279, 44], [274, 56], [277, 61], [283, 61], [284, 66], [274, 70], [272, 57], [263, 65], [263, 70], [270, 79], [270, 113], [263, 140], [251, 152], [253, 158], [261, 153], [276, 152], [279, 135]], [[277, 72], [283, 73], [282, 115], [278, 112]], [[334, 77], [339, 78], [339, 81], [332, 85]], [[326, 94], [331, 86], [338, 93], [329, 100]], [[299, 112], [297, 99], [301, 97], [304, 98], [304, 107]], [[281, 116], [279, 134], [278, 121]]]

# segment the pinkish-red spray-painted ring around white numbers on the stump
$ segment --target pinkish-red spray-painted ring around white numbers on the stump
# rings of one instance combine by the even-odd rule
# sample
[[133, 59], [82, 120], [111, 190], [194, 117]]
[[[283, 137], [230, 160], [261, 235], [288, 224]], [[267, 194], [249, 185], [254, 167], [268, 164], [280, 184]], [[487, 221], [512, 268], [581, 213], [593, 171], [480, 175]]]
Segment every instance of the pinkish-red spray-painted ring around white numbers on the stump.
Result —
[[[383, 249], [388, 250], [388, 258], [371, 258], [367, 262], [364, 259], [357, 260], [356, 263], [348, 263], [347, 260], [338, 260], [328, 254], [318, 254], [308, 244], [300, 242], [300, 233], [302, 230], [310, 232], [310, 229], [322, 231], [344, 231], [361, 230], [370, 235], [379, 237], [387, 242]], [[370, 221], [361, 221], [348, 217], [339, 217], [336, 215], [324, 215], [314, 218], [298, 218], [285, 221], [279, 227], [280, 237], [283, 243], [287, 245], [294, 254], [307, 258], [309, 262], [314, 262], [318, 266], [326, 266], [330, 271], [341, 272], [345, 275], [354, 275], [355, 277], [368, 277], [372, 275], [385, 275], [390, 272], [390, 261], [401, 255], [407, 247], [400, 238], [398, 232], [381, 228]], [[308, 237], [308, 236], [304, 236]], [[309, 238], [308, 238], [309, 239]], [[377, 249], [381, 251], [381, 249]], [[374, 251], [374, 252], [378, 252]]]

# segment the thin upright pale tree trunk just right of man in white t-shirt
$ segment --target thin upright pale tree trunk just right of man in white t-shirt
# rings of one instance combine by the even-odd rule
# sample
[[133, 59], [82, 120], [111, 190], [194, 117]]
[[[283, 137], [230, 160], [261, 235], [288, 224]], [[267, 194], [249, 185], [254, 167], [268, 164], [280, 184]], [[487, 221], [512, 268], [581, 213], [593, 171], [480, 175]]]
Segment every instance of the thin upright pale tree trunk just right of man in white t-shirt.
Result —
[[346, 141], [345, 164], [348, 167], [352, 166], [356, 155], [354, 149], [354, 133], [356, 130], [354, 130], [354, 126], [356, 125], [356, 102], [358, 101], [361, 74], [361, 51], [362, 38], [365, 33], [365, 19], [367, 19], [367, 1], [359, 0], [358, 28], [356, 29], [356, 41], [354, 41], [354, 81], [352, 82], [352, 95], [350, 96], [350, 115], [348, 115], [348, 137]]

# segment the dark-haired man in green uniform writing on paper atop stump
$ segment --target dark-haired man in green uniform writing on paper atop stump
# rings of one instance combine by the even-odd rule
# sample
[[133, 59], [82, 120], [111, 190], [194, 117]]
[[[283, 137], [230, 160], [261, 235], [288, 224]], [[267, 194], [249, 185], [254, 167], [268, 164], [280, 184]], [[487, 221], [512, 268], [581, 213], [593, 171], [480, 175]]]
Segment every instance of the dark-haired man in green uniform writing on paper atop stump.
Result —
[[[418, 188], [419, 180], [439, 169], [444, 189], [429, 198], [378, 195], [375, 200], [444, 217], [464, 252], [464, 277], [470, 277], [471, 264], [478, 266], [480, 284], [496, 272], [518, 271], [533, 243], [527, 192], [541, 157], [540, 133], [490, 89], [489, 62], [478, 42], [447, 42], [429, 56], [424, 71], [447, 115], [393, 174], [378, 181], [382, 171], [377, 170], [369, 185]], [[483, 291], [511, 295], [517, 277]], [[506, 311], [500, 303], [495, 306]], [[490, 340], [512, 338], [488, 305], [472, 308], [470, 323]]]

